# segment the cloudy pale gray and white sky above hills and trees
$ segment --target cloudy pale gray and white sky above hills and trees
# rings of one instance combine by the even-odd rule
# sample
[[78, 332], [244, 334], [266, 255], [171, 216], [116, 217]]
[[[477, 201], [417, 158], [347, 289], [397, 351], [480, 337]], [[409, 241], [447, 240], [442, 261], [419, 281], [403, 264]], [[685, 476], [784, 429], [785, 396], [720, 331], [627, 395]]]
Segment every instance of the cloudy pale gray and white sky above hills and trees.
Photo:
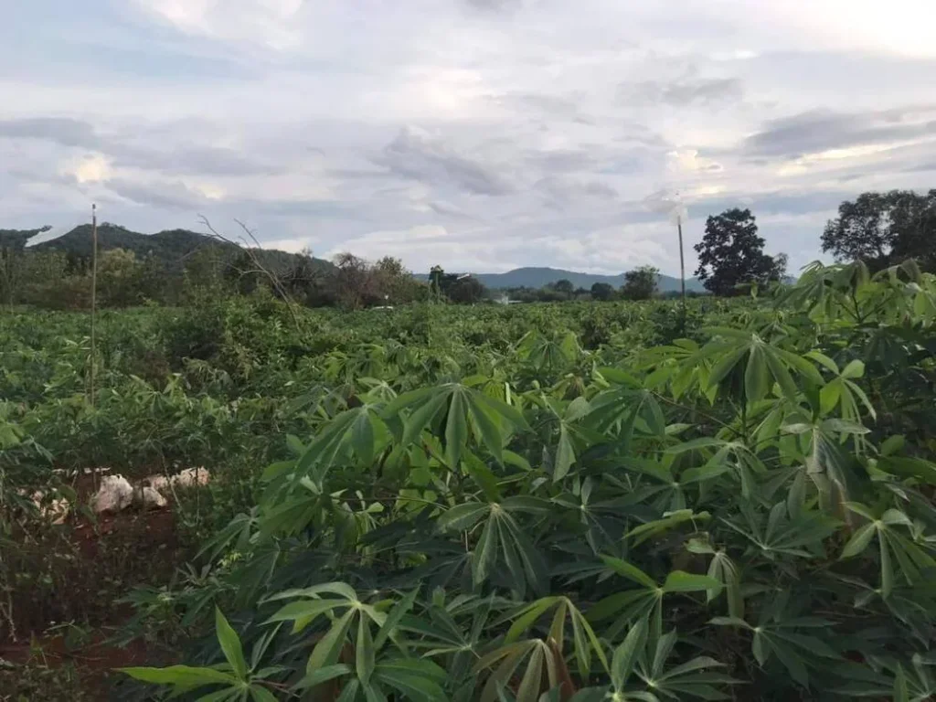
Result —
[[679, 191], [688, 243], [746, 206], [797, 269], [841, 199], [936, 187], [932, 0], [4, 5], [0, 228], [673, 273]]

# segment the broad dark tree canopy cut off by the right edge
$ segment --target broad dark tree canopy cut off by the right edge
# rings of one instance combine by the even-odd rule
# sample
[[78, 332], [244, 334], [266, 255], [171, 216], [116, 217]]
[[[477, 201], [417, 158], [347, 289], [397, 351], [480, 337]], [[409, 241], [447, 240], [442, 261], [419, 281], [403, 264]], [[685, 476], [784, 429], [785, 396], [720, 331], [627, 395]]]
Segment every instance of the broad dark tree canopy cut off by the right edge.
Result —
[[861, 259], [872, 270], [916, 258], [936, 270], [936, 190], [863, 193], [839, 206], [822, 235], [823, 251], [837, 260]]

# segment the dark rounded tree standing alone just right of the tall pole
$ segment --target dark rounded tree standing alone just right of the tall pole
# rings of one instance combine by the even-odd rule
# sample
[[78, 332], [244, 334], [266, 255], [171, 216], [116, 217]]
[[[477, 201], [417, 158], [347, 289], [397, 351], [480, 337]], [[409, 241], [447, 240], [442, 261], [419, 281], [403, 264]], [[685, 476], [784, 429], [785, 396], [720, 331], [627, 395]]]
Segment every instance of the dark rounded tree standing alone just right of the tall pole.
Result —
[[779, 280], [785, 257], [775, 260], [764, 253], [764, 239], [750, 210], [725, 210], [709, 216], [705, 235], [695, 244], [699, 267], [695, 276], [710, 292], [738, 295], [739, 285]]

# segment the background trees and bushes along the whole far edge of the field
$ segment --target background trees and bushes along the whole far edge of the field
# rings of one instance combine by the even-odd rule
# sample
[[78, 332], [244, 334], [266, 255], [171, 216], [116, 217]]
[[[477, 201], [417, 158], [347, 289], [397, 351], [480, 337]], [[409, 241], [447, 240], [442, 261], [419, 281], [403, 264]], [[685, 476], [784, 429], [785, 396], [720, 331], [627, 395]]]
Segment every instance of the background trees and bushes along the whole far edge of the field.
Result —
[[[120, 227], [115, 236], [120, 234]], [[75, 250], [34, 250], [26, 241], [48, 227], [0, 229], [0, 301], [8, 306], [35, 305], [52, 309], [87, 309], [91, 299], [91, 260]], [[90, 227], [89, 227], [90, 229]], [[110, 230], [109, 230], [110, 231]], [[193, 232], [164, 232], [167, 241], [182, 241]], [[137, 235], [139, 238], [139, 235]], [[83, 237], [81, 237], [83, 241]], [[167, 237], [164, 237], [167, 239]], [[162, 241], [162, 240], [160, 240]], [[165, 243], [165, 242], [164, 242]], [[189, 242], [190, 243], [190, 242]], [[729, 209], [706, 220], [702, 240], [695, 244], [695, 276], [720, 297], [744, 293], [751, 285], [769, 285], [786, 276], [787, 258], [765, 253], [756, 218], [748, 209]], [[823, 251], [838, 261], [860, 259], [878, 271], [907, 258], [923, 271], [936, 271], [936, 189], [864, 193], [841, 203], [838, 216], [821, 235]], [[139, 248], [139, 242], [135, 244]], [[434, 267], [429, 280], [418, 280], [398, 258], [369, 262], [336, 256], [323, 264], [310, 252], [287, 255], [260, 249], [200, 246], [174, 260], [139, 251], [110, 248], [98, 260], [98, 302], [127, 307], [147, 300], [182, 304], [204, 294], [251, 294], [267, 288], [271, 294], [301, 304], [358, 309], [447, 300], [473, 304], [484, 300], [647, 300], [659, 295], [659, 271], [643, 266], [625, 273], [615, 289], [596, 283], [576, 288], [560, 280], [541, 288], [489, 291], [475, 277], [446, 273]]]

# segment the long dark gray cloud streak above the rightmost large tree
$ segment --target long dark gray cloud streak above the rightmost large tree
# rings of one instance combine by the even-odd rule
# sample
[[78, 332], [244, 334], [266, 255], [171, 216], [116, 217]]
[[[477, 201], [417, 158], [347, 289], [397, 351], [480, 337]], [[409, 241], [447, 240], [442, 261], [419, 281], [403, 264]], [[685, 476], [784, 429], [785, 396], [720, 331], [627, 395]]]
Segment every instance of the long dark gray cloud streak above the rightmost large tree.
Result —
[[[936, 116], [936, 110], [923, 110]], [[914, 120], [915, 108], [863, 113], [810, 110], [770, 120], [744, 140], [743, 150], [755, 156], [796, 158], [803, 154], [863, 144], [936, 136], [936, 119]]]

